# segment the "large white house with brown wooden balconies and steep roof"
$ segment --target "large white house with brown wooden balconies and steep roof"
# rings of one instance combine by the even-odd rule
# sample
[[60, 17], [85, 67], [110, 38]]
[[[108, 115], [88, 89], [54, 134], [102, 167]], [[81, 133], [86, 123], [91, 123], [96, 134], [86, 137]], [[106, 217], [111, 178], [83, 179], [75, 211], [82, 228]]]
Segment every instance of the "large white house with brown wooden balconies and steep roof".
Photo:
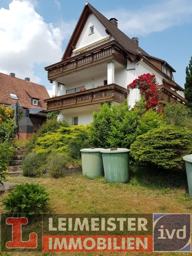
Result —
[[61, 119], [86, 125], [102, 102], [118, 105], [128, 98], [133, 106], [140, 93], [129, 92], [127, 85], [144, 73], [156, 75], [163, 99], [187, 104], [183, 88], [174, 81], [175, 70], [145, 52], [138, 41], [118, 29], [116, 18], [108, 20], [86, 3], [62, 61], [45, 68], [53, 97], [45, 100], [47, 110], [59, 110]]

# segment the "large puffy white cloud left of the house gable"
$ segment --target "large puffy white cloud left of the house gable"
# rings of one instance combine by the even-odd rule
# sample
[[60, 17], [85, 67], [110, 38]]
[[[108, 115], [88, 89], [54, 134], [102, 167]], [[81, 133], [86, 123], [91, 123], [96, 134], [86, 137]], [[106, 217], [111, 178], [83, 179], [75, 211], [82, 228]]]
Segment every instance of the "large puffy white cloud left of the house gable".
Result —
[[[36, 0], [13, 0], [9, 9], [0, 9], [0, 72], [40, 83], [33, 67], [60, 61], [61, 30], [45, 23], [34, 4]], [[64, 23], [63, 38], [71, 34], [70, 24]]]

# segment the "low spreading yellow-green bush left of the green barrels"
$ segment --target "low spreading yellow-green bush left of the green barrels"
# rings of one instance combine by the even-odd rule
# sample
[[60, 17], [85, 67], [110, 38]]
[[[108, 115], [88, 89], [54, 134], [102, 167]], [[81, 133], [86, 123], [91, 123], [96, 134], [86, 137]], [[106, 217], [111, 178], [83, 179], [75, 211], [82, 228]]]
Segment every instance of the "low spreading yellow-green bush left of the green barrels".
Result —
[[74, 125], [61, 127], [57, 132], [49, 132], [44, 137], [39, 137], [34, 152], [49, 153], [67, 152], [71, 157], [78, 158], [80, 149], [89, 145], [89, 126]]

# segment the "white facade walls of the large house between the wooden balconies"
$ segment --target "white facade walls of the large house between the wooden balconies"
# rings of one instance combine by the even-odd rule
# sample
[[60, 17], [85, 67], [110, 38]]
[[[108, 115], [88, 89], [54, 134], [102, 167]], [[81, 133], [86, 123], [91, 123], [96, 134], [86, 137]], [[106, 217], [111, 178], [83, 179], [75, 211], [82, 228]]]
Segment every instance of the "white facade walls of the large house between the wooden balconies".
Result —
[[[76, 49], [73, 49], [73, 56], [78, 55], [86, 50], [94, 49], [102, 44], [114, 40], [113, 37], [106, 34], [105, 27], [95, 17], [90, 14], [84, 29], [76, 44]], [[144, 73], [154, 73], [157, 82], [163, 84], [165, 76], [157, 69], [153, 69], [151, 66], [141, 59], [140, 61], [127, 61], [127, 67], [125, 68], [119, 62], [108, 61], [108, 63], [101, 64], [95, 67], [89, 67], [85, 70], [81, 70], [76, 73], [61, 77], [52, 81], [52, 95], [61, 96], [66, 93], [74, 93], [80, 90], [80, 88], [92, 89], [104, 85], [107, 80], [107, 84], [117, 84], [124, 88], [130, 84], [138, 76]], [[183, 92], [178, 91], [181, 96]], [[140, 99], [140, 91], [138, 89], [131, 90], [128, 95], [128, 104], [131, 107], [134, 106], [135, 101]], [[114, 104], [117, 104], [114, 102]], [[74, 121], [74, 118], [78, 118], [79, 125], [87, 125], [93, 122], [93, 111], [98, 111], [99, 105], [91, 105], [86, 107], [70, 108], [61, 111], [60, 119], [66, 119], [68, 122]]]

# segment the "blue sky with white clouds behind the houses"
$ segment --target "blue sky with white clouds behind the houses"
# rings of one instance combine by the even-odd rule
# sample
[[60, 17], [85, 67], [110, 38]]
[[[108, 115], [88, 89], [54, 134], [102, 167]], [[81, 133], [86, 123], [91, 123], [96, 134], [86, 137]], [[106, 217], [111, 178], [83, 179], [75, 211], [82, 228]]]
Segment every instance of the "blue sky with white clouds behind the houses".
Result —
[[[50, 90], [51, 84], [47, 80], [47, 72], [44, 71], [44, 67], [60, 58], [59, 38], [61, 38], [61, 14], [64, 20], [64, 50], [86, 1], [1, 0], [0, 13], [2, 8], [9, 10], [9, 4], [14, 1], [15, 3], [12, 5], [12, 13], [14, 15], [11, 15], [11, 17], [14, 16], [14, 19], [18, 19], [19, 22], [16, 28], [11, 27], [14, 26], [15, 20], [13, 20], [12, 24], [9, 24], [9, 29], [6, 30], [6, 33], [8, 35], [12, 33], [11, 37], [6, 37], [7, 34], [2, 29], [2, 20], [0, 18], [0, 33], [2, 29], [4, 32], [2, 35], [3, 38], [6, 38], [6, 40], [9, 38], [9, 41], [12, 40], [12, 45], [10, 44], [9, 48], [7, 47], [7, 55], [5, 55], [5, 51], [4, 53], [0, 52], [0, 71], [6, 73], [15, 71], [16, 76], [20, 78], [31, 76], [33, 81], [45, 85]], [[23, 7], [18, 5], [18, 2], [23, 4], [23, 2], [27, 1], [30, 2], [30, 5]], [[180, 86], [184, 86], [185, 69], [192, 55], [191, 0], [111, 0], [110, 2], [105, 0], [90, 0], [89, 3], [106, 17], [116, 17], [119, 20], [119, 29], [125, 32], [130, 38], [137, 36], [140, 39], [140, 47], [150, 55], [166, 60], [177, 71], [174, 74], [175, 81]], [[13, 10], [17, 10], [17, 6], [18, 10], [23, 8], [22, 12], [27, 13], [26, 17], [23, 15], [23, 20], [21, 19], [22, 15], [18, 14], [17, 17], [18, 11], [14, 12]], [[32, 41], [23, 39], [22, 43], [17, 44], [18, 41], [20, 42], [18, 35], [23, 36], [26, 33], [25, 23], [27, 24], [28, 21], [26, 19], [28, 20], [30, 15], [32, 18], [31, 20], [29, 19], [27, 31], [29, 31], [30, 27], [31, 34], [27, 35], [27, 37], [31, 37]], [[43, 21], [38, 15], [41, 15], [41, 18], [43, 17]], [[6, 13], [4, 17], [6, 19]], [[33, 24], [35, 19], [38, 21], [41, 20], [41, 22], [36, 23], [36, 29], [33, 31], [33, 25], [31, 24]], [[49, 28], [46, 30], [45, 26], [49, 23], [52, 23], [52, 25], [49, 25]], [[17, 33], [15, 29], [18, 29]], [[45, 32], [50, 32], [48, 38], [41, 36], [43, 34], [42, 29], [45, 29]], [[40, 31], [39, 34], [37, 34], [37, 30]], [[15, 33], [14, 36], [13, 33]], [[46, 40], [51, 40], [51, 43], [46, 45]], [[5, 48], [6, 45], [7, 43], [5, 42], [3, 47]], [[18, 47], [17, 50], [15, 49], [15, 45]], [[15, 49], [15, 52], [11, 54], [10, 48], [12, 51]], [[27, 49], [26, 52], [24, 49]], [[38, 54], [37, 49], [39, 49]], [[9, 54], [11, 55], [10, 58]], [[6, 59], [2, 60], [1, 55]], [[11, 61], [12, 58], [13, 61]], [[6, 62], [7, 64], [5, 64]]]

